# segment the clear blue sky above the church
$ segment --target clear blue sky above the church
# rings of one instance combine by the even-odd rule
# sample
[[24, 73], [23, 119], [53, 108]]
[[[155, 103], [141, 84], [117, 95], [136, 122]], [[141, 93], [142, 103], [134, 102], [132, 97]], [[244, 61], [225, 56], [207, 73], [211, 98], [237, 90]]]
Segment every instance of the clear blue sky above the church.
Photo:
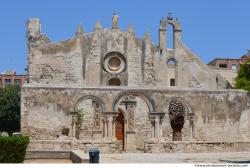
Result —
[[98, 20], [111, 26], [113, 12], [119, 27], [135, 29], [137, 37], [149, 31], [158, 43], [161, 17], [172, 12], [182, 26], [183, 42], [205, 63], [216, 57], [237, 58], [250, 49], [250, 0], [1, 0], [0, 72], [25, 73], [26, 22], [41, 19], [42, 32], [52, 41], [71, 38], [81, 23], [93, 31]]

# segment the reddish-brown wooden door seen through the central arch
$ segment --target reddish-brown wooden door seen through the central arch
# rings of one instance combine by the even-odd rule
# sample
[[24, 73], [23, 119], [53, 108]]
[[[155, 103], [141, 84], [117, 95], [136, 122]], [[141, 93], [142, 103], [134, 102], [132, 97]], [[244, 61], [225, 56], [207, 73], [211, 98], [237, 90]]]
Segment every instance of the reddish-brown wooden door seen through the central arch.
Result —
[[119, 110], [119, 115], [115, 121], [115, 137], [121, 143], [122, 150], [124, 150], [124, 115]]

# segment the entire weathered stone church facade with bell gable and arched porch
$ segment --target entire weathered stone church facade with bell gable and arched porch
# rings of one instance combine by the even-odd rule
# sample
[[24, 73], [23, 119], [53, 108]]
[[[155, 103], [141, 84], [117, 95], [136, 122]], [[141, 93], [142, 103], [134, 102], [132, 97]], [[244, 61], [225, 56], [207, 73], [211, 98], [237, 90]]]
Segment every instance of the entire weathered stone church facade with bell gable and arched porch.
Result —
[[[173, 48], [167, 48], [167, 26]], [[29, 150], [104, 153], [243, 151], [250, 148], [250, 99], [181, 41], [181, 26], [160, 20], [159, 44], [112, 27], [79, 26], [53, 43], [39, 19], [27, 23], [28, 82], [21, 131]]]

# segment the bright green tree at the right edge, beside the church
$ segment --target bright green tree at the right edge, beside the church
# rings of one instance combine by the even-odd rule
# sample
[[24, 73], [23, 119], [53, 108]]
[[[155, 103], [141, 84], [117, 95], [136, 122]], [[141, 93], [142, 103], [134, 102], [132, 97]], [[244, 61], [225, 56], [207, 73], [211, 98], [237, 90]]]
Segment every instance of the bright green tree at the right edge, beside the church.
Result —
[[250, 58], [240, 66], [235, 86], [250, 92]]

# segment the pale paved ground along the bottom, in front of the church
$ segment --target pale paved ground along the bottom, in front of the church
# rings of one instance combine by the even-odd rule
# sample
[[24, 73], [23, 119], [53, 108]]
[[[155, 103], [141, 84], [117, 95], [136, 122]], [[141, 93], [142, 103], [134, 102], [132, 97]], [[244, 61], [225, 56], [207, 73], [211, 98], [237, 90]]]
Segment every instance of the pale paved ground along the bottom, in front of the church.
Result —
[[[67, 159], [29, 159], [24, 163], [72, 163]], [[101, 154], [100, 163], [250, 163], [250, 152]]]

